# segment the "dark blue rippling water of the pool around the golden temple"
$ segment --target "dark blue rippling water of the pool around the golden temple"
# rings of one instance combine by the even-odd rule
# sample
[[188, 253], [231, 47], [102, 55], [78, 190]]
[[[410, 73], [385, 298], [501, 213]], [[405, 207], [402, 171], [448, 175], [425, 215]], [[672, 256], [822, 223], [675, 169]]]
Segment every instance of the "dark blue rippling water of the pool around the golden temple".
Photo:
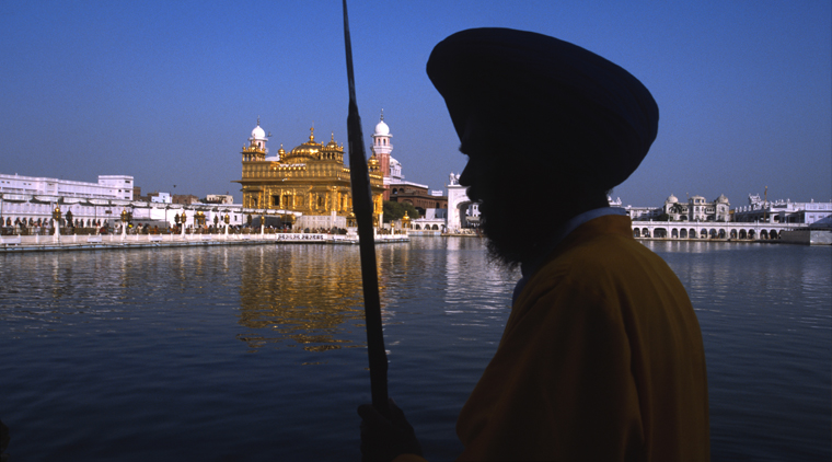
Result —
[[[832, 247], [646, 245], [702, 324], [713, 460], [830, 460]], [[452, 459], [517, 275], [475, 239], [378, 251], [390, 393]], [[355, 246], [0, 256], [12, 461], [358, 460], [366, 368]]]

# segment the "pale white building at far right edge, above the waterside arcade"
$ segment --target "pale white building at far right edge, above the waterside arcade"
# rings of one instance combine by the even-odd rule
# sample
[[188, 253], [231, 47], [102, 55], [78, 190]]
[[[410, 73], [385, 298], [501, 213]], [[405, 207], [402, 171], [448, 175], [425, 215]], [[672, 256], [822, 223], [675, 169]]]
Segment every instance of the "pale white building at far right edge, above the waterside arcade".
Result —
[[737, 207], [733, 210], [733, 221], [744, 223], [770, 222], [770, 223], [816, 223], [832, 217], [832, 201], [793, 203], [789, 199], [765, 200], [760, 195], [748, 196], [748, 206]]

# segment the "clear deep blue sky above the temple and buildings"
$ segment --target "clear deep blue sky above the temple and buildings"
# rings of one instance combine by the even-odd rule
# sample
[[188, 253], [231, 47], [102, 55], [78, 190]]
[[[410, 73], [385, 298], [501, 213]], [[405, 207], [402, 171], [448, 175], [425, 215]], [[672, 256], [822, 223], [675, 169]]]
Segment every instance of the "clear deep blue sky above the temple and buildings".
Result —
[[[346, 146], [340, 14], [337, 0], [0, 1], [0, 173], [127, 174], [145, 194], [240, 201], [231, 181], [257, 116], [271, 152], [312, 126]], [[652, 92], [659, 136], [613, 193], [625, 205], [746, 205], [765, 186], [770, 199], [832, 197], [829, 1], [353, 0], [349, 15], [368, 155], [383, 108], [406, 180], [431, 189], [464, 158], [430, 50], [505, 26], [580, 45]], [[507, 157], [525, 154], [517, 146]]]

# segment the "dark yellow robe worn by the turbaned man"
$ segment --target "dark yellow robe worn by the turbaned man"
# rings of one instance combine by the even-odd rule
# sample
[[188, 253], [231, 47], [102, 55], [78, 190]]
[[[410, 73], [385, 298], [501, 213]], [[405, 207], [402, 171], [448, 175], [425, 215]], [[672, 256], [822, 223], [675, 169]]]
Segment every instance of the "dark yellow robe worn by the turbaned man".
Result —
[[691, 301], [621, 216], [531, 276], [457, 423], [463, 461], [707, 461], [708, 431]]

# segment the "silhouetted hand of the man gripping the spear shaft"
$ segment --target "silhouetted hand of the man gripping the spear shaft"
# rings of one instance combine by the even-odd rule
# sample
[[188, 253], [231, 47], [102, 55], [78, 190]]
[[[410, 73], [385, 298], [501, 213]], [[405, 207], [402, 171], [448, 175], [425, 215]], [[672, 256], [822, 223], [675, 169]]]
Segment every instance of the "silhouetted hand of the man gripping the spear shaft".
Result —
[[391, 418], [379, 414], [372, 404], [358, 406], [361, 416], [361, 460], [392, 461], [400, 454], [421, 455], [421, 447], [404, 413], [390, 400]]

